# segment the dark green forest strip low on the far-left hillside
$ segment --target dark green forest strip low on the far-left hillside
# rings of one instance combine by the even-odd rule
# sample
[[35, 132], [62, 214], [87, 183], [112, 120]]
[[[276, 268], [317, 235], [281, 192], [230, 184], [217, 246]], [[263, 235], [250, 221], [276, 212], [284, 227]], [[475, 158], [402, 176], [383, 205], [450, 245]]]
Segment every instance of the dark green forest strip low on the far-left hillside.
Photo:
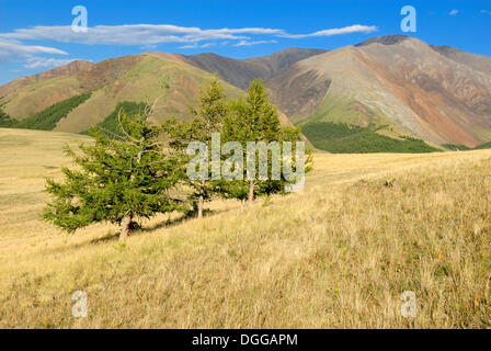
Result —
[[87, 101], [90, 97], [91, 92], [72, 97], [55, 103], [22, 121], [13, 120], [5, 112], [0, 110], [0, 126], [9, 128], [53, 131], [61, 118], [67, 117], [73, 109]]

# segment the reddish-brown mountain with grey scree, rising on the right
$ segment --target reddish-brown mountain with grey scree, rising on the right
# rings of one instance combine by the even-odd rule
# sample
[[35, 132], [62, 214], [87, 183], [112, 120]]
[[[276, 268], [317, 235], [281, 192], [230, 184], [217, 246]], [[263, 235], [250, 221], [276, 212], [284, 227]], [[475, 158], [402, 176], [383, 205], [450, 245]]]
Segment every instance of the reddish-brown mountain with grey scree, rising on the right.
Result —
[[490, 58], [442, 52], [404, 36], [372, 38], [298, 61], [266, 86], [299, 125], [387, 125], [379, 133], [473, 147], [491, 138]]

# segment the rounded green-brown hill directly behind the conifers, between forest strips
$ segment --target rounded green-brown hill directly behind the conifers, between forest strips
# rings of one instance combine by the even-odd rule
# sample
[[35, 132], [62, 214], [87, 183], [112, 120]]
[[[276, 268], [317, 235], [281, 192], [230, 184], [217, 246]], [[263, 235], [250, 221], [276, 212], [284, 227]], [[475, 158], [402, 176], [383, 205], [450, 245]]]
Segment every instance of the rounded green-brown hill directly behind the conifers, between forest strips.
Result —
[[[123, 101], [153, 102], [158, 99], [155, 118], [190, 118], [189, 105], [196, 102], [199, 87], [207, 77], [207, 72], [178, 60], [152, 54], [139, 55], [136, 65], [96, 89], [91, 99], [60, 121], [56, 131], [87, 131], [101, 122], [101, 117], [110, 115]], [[228, 83], [224, 87], [230, 98], [242, 93]]]

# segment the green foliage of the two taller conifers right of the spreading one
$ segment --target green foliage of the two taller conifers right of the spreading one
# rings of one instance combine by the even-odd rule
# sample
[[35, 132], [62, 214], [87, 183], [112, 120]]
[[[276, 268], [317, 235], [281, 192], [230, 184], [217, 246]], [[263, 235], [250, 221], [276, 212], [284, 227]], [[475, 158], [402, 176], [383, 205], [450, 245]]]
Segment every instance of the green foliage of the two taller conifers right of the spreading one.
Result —
[[[294, 127], [281, 128], [276, 109], [270, 104], [264, 87], [261, 81], [254, 81], [244, 99], [238, 99], [227, 103], [227, 97], [219, 83], [214, 79], [206, 81], [201, 94], [199, 103], [192, 109], [195, 118], [190, 122], [178, 122], [171, 118], [164, 123], [165, 132], [171, 136], [169, 145], [180, 150], [183, 157], [191, 160], [185, 154], [191, 141], [202, 141], [208, 147], [208, 161], [212, 160], [212, 134], [220, 133], [221, 145], [227, 141], [238, 141], [242, 146], [242, 155], [239, 157], [246, 160], [248, 141], [298, 141], [301, 140], [300, 129]], [[226, 160], [221, 156], [221, 165]], [[271, 169], [271, 157], [269, 158], [269, 169]], [[307, 162], [311, 161], [308, 157]], [[283, 162], [283, 160], [282, 160]], [[295, 160], [294, 160], [295, 162]], [[295, 167], [295, 165], [294, 165]], [[210, 165], [208, 163], [208, 170]], [[259, 160], [256, 158], [256, 168]], [[228, 199], [246, 200], [250, 194], [251, 182], [246, 180], [247, 169], [244, 167], [243, 179], [240, 180], [184, 180], [193, 192], [191, 200], [196, 205], [196, 201], [207, 201], [213, 195], [220, 195]], [[255, 180], [252, 182], [254, 196], [281, 193], [284, 191], [286, 180]]]

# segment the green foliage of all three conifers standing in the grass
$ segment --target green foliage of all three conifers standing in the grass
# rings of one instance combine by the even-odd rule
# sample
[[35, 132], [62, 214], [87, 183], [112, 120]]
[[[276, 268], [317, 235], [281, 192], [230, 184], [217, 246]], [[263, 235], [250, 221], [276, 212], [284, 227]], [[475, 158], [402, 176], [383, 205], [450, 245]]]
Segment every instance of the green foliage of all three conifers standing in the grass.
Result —
[[[128, 115], [132, 109], [138, 112]], [[298, 128], [281, 128], [276, 109], [267, 101], [261, 81], [251, 84], [246, 99], [228, 104], [214, 78], [205, 83], [192, 113], [195, 118], [191, 123], [171, 118], [155, 126], [149, 122], [149, 109], [119, 104], [114, 114], [89, 131], [95, 143], [80, 145], [81, 155], [66, 148], [76, 167], [62, 168], [62, 182], [47, 180], [46, 192], [52, 201], [44, 210], [44, 219], [68, 233], [98, 222], [121, 223], [124, 237], [133, 218], [173, 211], [189, 213], [196, 210], [196, 204], [203, 210], [204, 201], [213, 194], [252, 200], [251, 189], [254, 196], [284, 191], [285, 179], [210, 181], [191, 180], [185, 174], [189, 143], [205, 143], [210, 152], [212, 134], [216, 132], [224, 135], [222, 143], [241, 143], [244, 152], [248, 141], [301, 140]], [[295, 167], [295, 159], [293, 162]], [[191, 189], [186, 200], [171, 195], [181, 184]]]

